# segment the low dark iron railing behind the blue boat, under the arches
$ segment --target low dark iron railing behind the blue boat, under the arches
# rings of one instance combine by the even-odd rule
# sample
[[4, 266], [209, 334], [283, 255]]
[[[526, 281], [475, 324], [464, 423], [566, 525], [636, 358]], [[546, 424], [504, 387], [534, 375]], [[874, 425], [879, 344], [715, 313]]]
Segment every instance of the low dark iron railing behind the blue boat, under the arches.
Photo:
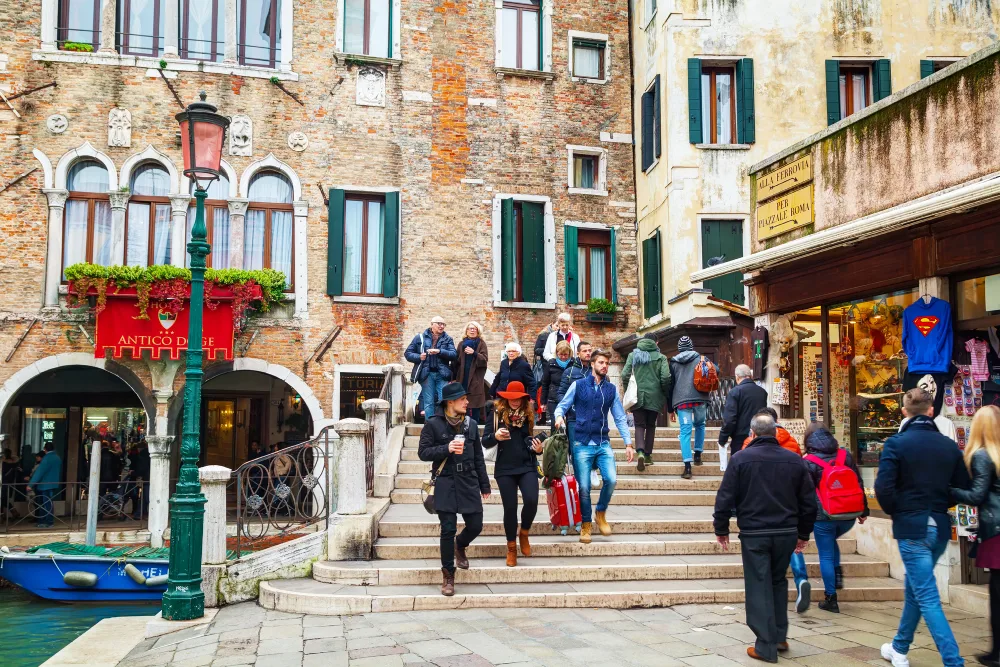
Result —
[[[61, 482], [54, 489], [36, 491], [35, 485], [0, 487], [3, 532], [31, 530], [77, 531], [87, 525], [89, 484]], [[97, 498], [97, 525], [118, 530], [149, 526], [149, 482], [102, 482]]]

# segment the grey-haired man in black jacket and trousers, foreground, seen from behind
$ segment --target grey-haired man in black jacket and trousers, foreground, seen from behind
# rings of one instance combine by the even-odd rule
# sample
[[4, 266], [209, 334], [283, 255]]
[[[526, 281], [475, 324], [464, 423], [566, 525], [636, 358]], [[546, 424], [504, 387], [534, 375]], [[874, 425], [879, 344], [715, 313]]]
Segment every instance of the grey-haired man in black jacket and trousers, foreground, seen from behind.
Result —
[[769, 414], [750, 421], [750, 444], [733, 455], [715, 496], [715, 535], [729, 549], [736, 514], [743, 556], [747, 625], [757, 635], [747, 655], [778, 662], [787, 651], [788, 579], [795, 551], [809, 541], [816, 521], [816, 488], [802, 459], [778, 444]]

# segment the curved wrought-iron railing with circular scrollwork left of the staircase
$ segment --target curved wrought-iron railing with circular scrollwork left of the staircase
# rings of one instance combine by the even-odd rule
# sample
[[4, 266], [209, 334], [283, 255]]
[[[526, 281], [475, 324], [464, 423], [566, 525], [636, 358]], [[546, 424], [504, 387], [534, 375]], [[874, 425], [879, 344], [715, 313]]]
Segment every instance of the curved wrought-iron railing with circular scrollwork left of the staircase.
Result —
[[247, 461], [236, 480], [236, 551], [254, 551], [317, 522], [330, 524], [336, 497], [328, 461], [336, 439], [326, 427], [311, 440]]

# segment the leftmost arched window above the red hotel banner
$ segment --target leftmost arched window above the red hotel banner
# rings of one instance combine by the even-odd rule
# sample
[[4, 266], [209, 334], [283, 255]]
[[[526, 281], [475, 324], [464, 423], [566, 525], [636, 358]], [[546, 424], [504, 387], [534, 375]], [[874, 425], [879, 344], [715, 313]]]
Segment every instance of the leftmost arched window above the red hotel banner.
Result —
[[63, 269], [77, 262], [109, 266], [114, 244], [108, 170], [97, 160], [80, 160], [70, 167], [66, 187]]

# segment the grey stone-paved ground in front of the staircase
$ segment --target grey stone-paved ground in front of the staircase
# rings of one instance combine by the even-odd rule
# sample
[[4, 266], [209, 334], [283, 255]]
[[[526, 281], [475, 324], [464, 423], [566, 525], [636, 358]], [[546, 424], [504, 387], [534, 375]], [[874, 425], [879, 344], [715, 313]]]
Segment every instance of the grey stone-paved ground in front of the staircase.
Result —
[[[901, 602], [815, 605], [789, 613], [791, 646], [779, 664], [808, 667], [887, 665], [878, 652], [891, 639]], [[987, 619], [945, 609], [962, 648], [986, 650]], [[746, 655], [753, 633], [743, 605], [664, 609], [469, 609], [364, 616], [304, 616], [254, 603], [226, 607], [205, 628], [144, 641], [119, 667], [439, 667], [504, 665], [761, 665]], [[970, 663], [974, 663], [970, 660]], [[921, 624], [913, 667], [940, 665]]]

